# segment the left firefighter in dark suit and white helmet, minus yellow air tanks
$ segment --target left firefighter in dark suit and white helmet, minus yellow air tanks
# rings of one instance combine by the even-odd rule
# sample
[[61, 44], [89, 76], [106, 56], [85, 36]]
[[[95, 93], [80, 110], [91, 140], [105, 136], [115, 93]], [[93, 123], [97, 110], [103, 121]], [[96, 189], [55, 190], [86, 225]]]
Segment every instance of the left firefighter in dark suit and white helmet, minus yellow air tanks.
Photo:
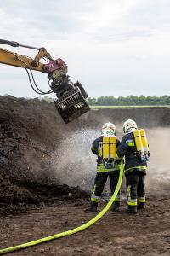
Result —
[[[111, 183], [111, 194], [114, 193], [116, 189], [116, 184], [119, 178], [120, 168], [117, 163], [110, 166], [105, 165], [103, 160], [103, 137], [115, 137], [116, 136], [116, 126], [109, 123], [105, 123], [102, 127], [101, 136], [94, 140], [92, 144], [92, 152], [97, 155], [97, 174], [94, 180], [94, 190], [91, 195], [91, 206], [88, 208], [91, 212], [97, 212], [97, 207], [99, 204], [100, 196], [105, 187], [107, 178], [110, 178]], [[116, 147], [119, 145], [120, 141], [116, 139]], [[116, 200], [113, 203], [111, 209], [112, 211], [118, 212], [120, 207], [120, 191], [116, 196]]]

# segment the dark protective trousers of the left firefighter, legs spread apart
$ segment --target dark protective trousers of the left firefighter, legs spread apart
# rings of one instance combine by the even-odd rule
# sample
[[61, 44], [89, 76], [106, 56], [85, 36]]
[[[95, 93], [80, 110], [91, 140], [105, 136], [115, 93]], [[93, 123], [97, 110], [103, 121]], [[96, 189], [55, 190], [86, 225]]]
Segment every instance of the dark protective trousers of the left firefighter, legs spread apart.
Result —
[[[95, 180], [94, 180], [94, 190], [91, 195], [91, 201], [96, 202], [96, 205], [99, 203], [100, 196], [104, 190], [105, 183], [107, 181], [107, 177], [110, 178], [111, 183], [111, 195], [115, 192], [116, 184], [119, 179], [119, 171], [113, 171], [113, 172], [97, 172]], [[118, 192], [116, 196], [115, 201], [120, 201], [120, 191]]]

